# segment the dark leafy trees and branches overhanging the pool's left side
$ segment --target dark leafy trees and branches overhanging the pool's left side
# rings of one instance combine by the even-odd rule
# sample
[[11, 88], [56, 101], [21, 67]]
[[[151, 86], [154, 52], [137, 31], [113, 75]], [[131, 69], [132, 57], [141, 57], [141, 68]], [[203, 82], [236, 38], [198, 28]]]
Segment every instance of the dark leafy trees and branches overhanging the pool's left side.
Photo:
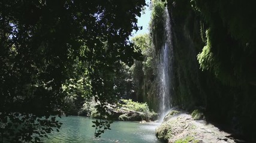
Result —
[[144, 5], [137, 0], [1, 1], [1, 141], [40, 141], [60, 126], [52, 115], [92, 95], [107, 114], [106, 102], [125, 91], [121, 67], [141, 56], [128, 36], [138, 30], [135, 17]]

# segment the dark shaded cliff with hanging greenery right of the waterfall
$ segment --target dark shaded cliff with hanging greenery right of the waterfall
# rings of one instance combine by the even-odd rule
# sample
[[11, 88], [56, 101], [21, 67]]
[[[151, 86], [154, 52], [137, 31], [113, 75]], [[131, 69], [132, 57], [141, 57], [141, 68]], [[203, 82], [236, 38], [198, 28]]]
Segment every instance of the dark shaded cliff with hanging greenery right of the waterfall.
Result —
[[250, 2], [168, 0], [166, 7], [173, 43], [173, 105], [202, 107], [207, 120], [254, 138], [256, 18], [246, 18], [255, 12]]

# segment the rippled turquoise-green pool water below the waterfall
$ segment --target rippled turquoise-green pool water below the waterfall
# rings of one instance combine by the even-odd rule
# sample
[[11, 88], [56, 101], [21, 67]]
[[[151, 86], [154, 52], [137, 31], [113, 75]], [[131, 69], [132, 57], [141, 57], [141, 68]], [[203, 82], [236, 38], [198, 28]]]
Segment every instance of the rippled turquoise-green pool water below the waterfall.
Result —
[[159, 123], [114, 122], [101, 138], [94, 138], [95, 129], [88, 117], [62, 117], [59, 132], [53, 132], [44, 142], [152, 142], [159, 143], [155, 137], [155, 128]]

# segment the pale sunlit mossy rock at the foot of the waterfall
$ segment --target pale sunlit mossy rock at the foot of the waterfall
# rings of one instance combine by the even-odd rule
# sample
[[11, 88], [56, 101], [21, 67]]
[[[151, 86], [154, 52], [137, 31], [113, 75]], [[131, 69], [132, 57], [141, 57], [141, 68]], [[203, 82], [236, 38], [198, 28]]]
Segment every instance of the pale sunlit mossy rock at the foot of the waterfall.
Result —
[[188, 113], [170, 111], [164, 122], [156, 128], [156, 137], [166, 142], [235, 142], [223, 132], [204, 120], [194, 120]]

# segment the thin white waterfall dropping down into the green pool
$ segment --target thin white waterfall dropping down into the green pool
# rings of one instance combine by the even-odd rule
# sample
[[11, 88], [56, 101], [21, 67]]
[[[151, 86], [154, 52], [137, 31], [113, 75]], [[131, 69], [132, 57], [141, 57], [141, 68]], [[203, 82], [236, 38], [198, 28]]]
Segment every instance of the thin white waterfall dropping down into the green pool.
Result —
[[164, 45], [159, 55], [158, 77], [159, 77], [159, 120], [162, 121], [164, 116], [171, 109], [171, 75], [172, 75], [172, 57], [173, 44], [171, 38], [171, 23], [168, 9], [165, 8], [165, 31]]

